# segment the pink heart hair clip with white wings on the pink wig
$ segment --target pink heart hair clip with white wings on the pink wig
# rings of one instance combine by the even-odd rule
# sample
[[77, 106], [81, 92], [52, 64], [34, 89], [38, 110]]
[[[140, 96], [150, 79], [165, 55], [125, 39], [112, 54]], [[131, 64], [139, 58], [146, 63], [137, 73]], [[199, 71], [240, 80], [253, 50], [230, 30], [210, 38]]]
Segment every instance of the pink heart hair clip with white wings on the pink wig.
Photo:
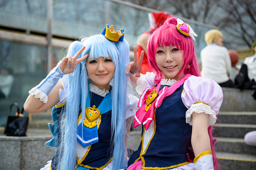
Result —
[[177, 30], [185, 35], [189, 36], [192, 40], [196, 41], [194, 36], [197, 37], [198, 35], [194, 32], [194, 30], [186, 23], [184, 23], [182, 20], [177, 19], [177, 25], [176, 25]]

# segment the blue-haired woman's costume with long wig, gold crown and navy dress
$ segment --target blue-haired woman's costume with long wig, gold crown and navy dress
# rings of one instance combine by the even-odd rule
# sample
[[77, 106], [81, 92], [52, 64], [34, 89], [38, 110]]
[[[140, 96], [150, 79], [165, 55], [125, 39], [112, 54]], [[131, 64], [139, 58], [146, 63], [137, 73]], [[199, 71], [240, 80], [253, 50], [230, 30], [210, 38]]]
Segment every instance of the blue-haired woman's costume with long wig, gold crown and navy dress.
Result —
[[[67, 55], [74, 56], [82, 46], [87, 45], [82, 53], [90, 54], [92, 59], [111, 56], [113, 62], [118, 62], [112, 83], [119, 83], [119, 87], [110, 85], [110, 91], [100, 90], [88, 82], [86, 68], [80, 64], [71, 75], [64, 75], [58, 66], [55, 67], [38, 86], [29, 91], [31, 95], [35, 95], [35, 98], [40, 98], [46, 103], [48, 94], [59, 79], [63, 87], [63, 90], [59, 89], [59, 103], [52, 109], [53, 124], [49, 124], [53, 138], [46, 142], [48, 146], [57, 147], [57, 151], [52, 161], [42, 169], [75, 167], [75, 169], [110, 170], [124, 166], [122, 163], [125, 156], [126, 128], [122, 127], [125, 126], [125, 119], [135, 114], [133, 108], [138, 98], [127, 94], [123, 89], [126, 87], [128, 77], [122, 75], [129, 62], [129, 44], [123, 39], [123, 34], [123, 30], [115, 31], [113, 26], [106, 25], [102, 35], [92, 36], [91, 40], [88, 38], [82, 39], [81, 42], [73, 42]], [[76, 85], [78, 87], [73, 88]], [[77, 92], [78, 97], [73, 99]], [[84, 96], [87, 98], [83, 98]], [[113, 113], [112, 107], [114, 107]], [[72, 161], [73, 158], [74, 160], [76, 158], [76, 162]]]

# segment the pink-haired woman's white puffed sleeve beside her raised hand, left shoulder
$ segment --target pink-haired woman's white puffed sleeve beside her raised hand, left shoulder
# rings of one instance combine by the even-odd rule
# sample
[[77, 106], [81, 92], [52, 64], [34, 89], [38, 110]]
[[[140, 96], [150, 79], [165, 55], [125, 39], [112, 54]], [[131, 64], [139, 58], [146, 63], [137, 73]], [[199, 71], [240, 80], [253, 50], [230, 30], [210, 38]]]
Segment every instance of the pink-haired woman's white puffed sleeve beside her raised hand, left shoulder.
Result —
[[154, 72], [147, 72], [146, 74], [141, 74], [141, 77], [137, 80], [136, 91], [140, 95], [147, 87], [152, 87], [156, 84], [156, 74]]

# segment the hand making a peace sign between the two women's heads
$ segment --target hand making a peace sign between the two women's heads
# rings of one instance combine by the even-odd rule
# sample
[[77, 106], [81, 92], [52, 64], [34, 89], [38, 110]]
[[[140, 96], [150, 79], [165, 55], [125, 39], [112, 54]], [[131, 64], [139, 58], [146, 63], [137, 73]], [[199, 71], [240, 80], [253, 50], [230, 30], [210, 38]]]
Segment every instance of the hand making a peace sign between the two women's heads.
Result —
[[138, 62], [137, 47], [134, 46], [134, 62], [128, 63], [125, 69], [125, 73], [129, 74], [131, 72], [133, 73], [133, 77], [140, 77], [143, 57], [144, 57], [144, 51], [141, 52], [141, 56]]

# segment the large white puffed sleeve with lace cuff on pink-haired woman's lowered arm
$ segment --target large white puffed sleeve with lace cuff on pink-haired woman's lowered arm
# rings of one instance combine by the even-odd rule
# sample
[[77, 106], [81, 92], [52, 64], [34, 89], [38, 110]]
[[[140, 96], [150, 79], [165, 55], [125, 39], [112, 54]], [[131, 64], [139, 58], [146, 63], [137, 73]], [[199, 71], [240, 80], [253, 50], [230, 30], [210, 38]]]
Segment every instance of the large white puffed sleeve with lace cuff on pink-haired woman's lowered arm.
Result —
[[208, 126], [216, 122], [223, 101], [221, 87], [207, 77], [190, 76], [183, 85], [184, 91], [181, 99], [188, 108], [186, 111], [186, 123], [192, 125], [192, 113], [205, 112], [209, 114]]

